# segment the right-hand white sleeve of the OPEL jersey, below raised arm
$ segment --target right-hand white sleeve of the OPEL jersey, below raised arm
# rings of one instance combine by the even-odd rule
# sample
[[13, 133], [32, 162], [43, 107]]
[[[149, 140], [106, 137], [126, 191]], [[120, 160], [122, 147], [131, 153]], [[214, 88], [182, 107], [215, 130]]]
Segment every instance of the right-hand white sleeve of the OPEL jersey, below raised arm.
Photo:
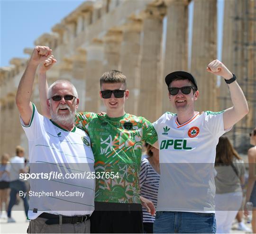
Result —
[[224, 123], [223, 123], [223, 111], [219, 112], [212, 112], [212, 111], [205, 111], [204, 112], [204, 119], [205, 119], [205, 126], [209, 130], [212, 135], [220, 137], [224, 133], [228, 132], [230, 129], [224, 130]]

